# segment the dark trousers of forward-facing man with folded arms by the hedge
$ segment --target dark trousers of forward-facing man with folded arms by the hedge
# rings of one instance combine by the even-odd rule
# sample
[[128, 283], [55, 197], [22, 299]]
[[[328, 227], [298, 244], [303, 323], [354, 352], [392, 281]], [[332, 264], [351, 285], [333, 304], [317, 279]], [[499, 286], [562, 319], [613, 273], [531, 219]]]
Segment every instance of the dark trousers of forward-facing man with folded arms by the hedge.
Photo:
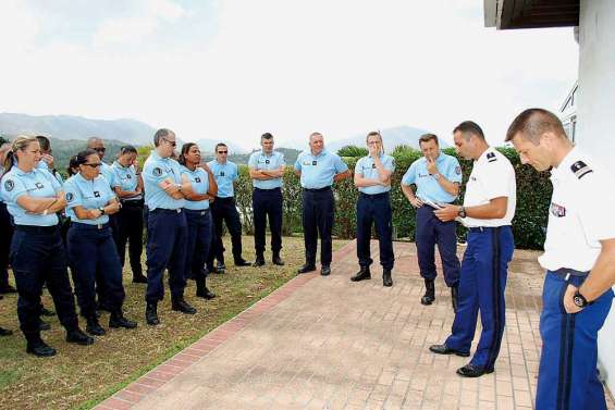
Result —
[[282, 249], [282, 189], [254, 188], [254, 246], [257, 254], [265, 252], [265, 231], [267, 219], [271, 231], [271, 251], [279, 253]]

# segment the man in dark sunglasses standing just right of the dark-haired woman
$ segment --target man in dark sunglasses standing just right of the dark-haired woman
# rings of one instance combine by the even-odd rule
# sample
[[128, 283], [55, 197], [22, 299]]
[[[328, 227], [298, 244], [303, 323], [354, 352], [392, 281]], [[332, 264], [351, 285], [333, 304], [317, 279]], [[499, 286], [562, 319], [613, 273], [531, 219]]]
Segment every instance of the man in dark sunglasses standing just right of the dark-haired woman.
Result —
[[[210, 272], [224, 273], [224, 245], [222, 244], [222, 223], [226, 223], [233, 249], [235, 266], [249, 266], [250, 263], [242, 257], [242, 220], [235, 204], [235, 189], [233, 184], [239, 178], [237, 164], [227, 160], [229, 147], [220, 142], [216, 146], [216, 159], [208, 162], [209, 169], [218, 184], [218, 195], [211, 202], [211, 216], [213, 219], [214, 233], [211, 243], [211, 251], [207, 266]], [[213, 268], [213, 259], [218, 265]]]

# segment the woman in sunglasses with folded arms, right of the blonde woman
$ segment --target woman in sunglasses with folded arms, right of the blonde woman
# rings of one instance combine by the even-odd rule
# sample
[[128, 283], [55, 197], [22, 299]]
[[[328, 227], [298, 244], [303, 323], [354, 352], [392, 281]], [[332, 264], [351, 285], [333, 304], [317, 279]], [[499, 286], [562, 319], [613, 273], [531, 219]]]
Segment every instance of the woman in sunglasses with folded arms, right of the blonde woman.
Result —
[[109, 183], [100, 175], [100, 158], [96, 151], [86, 149], [77, 153], [79, 172], [66, 181], [66, 208], [71, 216], [69, 228], [69, 259], [77, 302], [82, 315], [87, 320], [86, 332], [104, 335], [104, 328], [96, 316], [95, 278], [102, 274], [106, 302], [111, 311], [109, 327], [134, 328], [136, 322], [124, 318], [124, 286], [122, 264], [111, 227], [109, 214], [116, 213], [121, 206]]

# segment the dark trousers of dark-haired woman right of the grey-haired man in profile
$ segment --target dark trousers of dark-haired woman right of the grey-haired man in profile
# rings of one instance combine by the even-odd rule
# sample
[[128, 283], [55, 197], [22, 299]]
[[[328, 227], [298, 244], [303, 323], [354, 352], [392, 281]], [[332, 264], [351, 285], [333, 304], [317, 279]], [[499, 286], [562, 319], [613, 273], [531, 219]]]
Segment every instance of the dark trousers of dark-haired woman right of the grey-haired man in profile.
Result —
[[186, 212], [186, 222], [188, 224], [184, 281], [188, 278], [205, 278], [207, 275], [205, 263], [209, 256], [213, 231], [211, 213], [209, 209], [202, 211], [184, 209], [184, 212]]

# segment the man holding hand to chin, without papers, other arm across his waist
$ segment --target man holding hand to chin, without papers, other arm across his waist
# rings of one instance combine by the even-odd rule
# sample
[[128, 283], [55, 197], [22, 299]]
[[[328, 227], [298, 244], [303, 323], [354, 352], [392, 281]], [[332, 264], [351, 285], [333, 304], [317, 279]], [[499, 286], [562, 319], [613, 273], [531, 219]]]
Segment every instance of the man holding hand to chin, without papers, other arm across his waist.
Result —
[[369, 156], [359, 159], [355, 165], [355, 186], [359, 189], [357, 202], [357, 258], [359, 272], [350, 277], [353, 282], [371, 278], [369, 266], [373, 262], [370, 254], [371, 226], [376, 224], [382, 285], [393, 286], [391, 271], [395, 262], [393, 252], [393, 213], [391, 211], [391, 175], [395, 171], [395, 160], [384, 153], [382, 136], [371, 132], [367, 135]]

